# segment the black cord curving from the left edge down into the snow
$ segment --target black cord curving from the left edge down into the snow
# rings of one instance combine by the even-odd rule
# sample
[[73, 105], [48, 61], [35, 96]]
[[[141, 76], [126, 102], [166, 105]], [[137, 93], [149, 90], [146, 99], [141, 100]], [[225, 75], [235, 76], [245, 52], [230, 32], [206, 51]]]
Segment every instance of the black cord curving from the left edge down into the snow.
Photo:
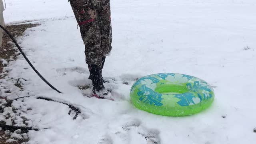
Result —
[[6, 34], [8, 34], [8, 36], [12, 39], [12, 41], [14, 42], [14, 44], [17, 46], [17, 48], [20, 50], [22, 56], [24, 56], [25, 60], [28, 62], [28, 64], [31, 66], [31, 68], [36, 72], [36, 74], [46, 83], [48, 84], [48, 86], [50, 86], [52, 89], [56, 90], [58, 93], [62, 94], [62, 92], [60, 92], [59, 90], [57, 90], [54, 86], [52, 86], [37, 70], [36, 68], [31, 64], [31, 62], [28, 60], [28, 58], [26, 57], [26, 55], [24, 54], [24, 52], [22, 51], [22, 49], [20, 48], [20, 46], [18, 45], [18, 43], [16, 42], [16, 40], [13, 38], [13, 36], [10, 34], [10, 32], [8, 32], [8, 30], [6, 30], [2, 25], [0, 25], [0, 28], [2, 28], [4, 30], [4, 32], [6, 32]]

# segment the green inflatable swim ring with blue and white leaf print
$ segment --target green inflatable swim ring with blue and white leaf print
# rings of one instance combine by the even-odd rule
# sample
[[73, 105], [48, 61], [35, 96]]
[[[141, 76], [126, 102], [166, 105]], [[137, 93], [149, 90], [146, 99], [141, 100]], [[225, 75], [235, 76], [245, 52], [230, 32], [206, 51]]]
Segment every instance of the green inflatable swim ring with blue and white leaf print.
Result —
[[194, 76], [161, 73], [137, 80], [130, 96], [141, 110], [163, 116], [187, 116], [208, 108], [214, 100], [214, 90]]

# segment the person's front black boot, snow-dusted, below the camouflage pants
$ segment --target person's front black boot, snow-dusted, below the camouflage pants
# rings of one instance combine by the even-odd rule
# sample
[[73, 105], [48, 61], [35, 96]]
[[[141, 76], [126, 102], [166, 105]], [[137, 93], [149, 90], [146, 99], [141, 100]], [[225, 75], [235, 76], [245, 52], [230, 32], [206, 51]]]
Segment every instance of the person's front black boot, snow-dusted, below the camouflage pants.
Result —
[[[94, 95], [98, 97], [103, 97], [108, 94], [108, 91], [105, 89], [103, 85], [103, 78], [101, 76], [101, 68], [99, 66], [88, 64], [90, 70], [90, 77], [92, 80], [92, 92]], [[97, 97], [96, 96], [96, 97]]]

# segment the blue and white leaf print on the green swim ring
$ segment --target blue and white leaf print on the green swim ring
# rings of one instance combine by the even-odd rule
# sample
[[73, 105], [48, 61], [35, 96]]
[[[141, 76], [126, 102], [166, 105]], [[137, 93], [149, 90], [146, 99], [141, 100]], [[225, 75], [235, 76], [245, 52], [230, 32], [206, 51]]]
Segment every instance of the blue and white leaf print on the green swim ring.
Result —
[[[156, 77], [155, 77], [156, 76]], [[157, 78], [158, 77], [158, 78]], [[193, 76], [188, 76], [185, 74], [155, 74], [150, 76], [145, 76], [140, 78], [133, 86], [131, 92], [134, 92], [134, 88], [139, 84], [140, 86], [139, 92], [137, 95], [140, 97], [139, 100], [147, 103], [154, 104], [155, 106], [162, 106], [161, 100], [162, 94], [155, 92], [156, 83], [160, 82], [159, 79], [168, 80], [168, 83], [186, 83], [189, 80], [193, 79]], [[198, 104], [202, 100], [207, 100], [212, 98], [211, 88], [206, 82], [195, 81], [194, 84], [188, 83], [186, 84], [187, 88], [190, 92], [183, 94], [175, 94], [175, 98], [179, 98], [180, 101], [177, 102], [180, 106], [190, 106], [193, 104]], [[200, 92], [199, 92], [200, 91]], [[201, 93], [201, 94], [200, 94]]]

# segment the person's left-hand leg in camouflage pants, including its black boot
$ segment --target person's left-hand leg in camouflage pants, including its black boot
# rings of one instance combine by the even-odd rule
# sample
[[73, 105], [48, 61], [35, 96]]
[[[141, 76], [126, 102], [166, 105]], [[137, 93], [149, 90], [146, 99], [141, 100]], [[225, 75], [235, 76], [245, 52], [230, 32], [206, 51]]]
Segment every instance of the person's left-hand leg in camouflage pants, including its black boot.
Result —
[[74, 8], [72, 7], [80, 32], [85, 45], [86, 63], [88, 64], [93, 93], [96, 94], [101, 91], [100, 96], [107, 94], [103, 85], [101, 76], [102, 57], [104, 53], [101, 49], [100, 30], [98, 27], [98, 10], [91, 8]]

